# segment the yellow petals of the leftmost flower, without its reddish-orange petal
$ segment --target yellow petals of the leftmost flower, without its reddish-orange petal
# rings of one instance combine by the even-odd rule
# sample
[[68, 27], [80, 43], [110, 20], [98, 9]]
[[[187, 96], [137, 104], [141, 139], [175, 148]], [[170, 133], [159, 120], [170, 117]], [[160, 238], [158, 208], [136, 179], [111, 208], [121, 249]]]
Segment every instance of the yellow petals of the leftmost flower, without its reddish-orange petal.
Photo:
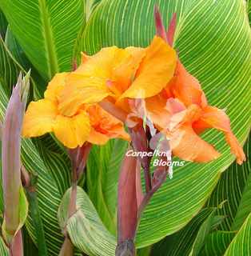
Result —
[[71, 149], [86, 142], [90, 134], [90, 120], [85, 106], [70, 116], [58, 108], [58, 97], [68, 75], [56, 74], [45, 91], [45, 98], [30, 102], [23, 123], [23, 137], [38, 137], [54, 132], [58, 140]]

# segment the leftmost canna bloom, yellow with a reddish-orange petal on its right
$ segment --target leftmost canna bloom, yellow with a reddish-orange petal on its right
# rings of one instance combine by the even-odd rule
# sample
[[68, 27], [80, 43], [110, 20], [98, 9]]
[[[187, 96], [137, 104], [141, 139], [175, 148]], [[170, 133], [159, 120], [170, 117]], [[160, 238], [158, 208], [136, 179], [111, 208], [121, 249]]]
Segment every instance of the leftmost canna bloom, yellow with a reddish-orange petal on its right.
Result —
[[128, 140], [123, 123], [100, 106], [82, 105], [70, 116], [59, 109], [58, 100], [69, 75], [56, 74], [47, 87], [45, 98], [30, 102], [23, 123], [23, 137], [38, 137], [54, 132], [58, 140], [70, 149], [85, 142], [102, 145], [110, 138]]

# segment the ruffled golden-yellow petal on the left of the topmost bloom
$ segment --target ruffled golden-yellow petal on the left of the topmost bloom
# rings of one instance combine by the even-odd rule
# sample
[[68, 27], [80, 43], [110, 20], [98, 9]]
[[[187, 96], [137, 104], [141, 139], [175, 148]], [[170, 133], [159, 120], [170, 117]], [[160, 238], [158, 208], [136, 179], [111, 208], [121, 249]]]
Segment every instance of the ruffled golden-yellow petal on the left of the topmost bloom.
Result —
[[112, 78], [114, 67], [120, 65], [128, 53], [112, 46], [93, 56], [82, 56], [82, 65], [67, 76], [59, 101], [59, 110], [66, 116], [76, 114], [83, 104], [101, 102], [112, 94], [107, 82]]

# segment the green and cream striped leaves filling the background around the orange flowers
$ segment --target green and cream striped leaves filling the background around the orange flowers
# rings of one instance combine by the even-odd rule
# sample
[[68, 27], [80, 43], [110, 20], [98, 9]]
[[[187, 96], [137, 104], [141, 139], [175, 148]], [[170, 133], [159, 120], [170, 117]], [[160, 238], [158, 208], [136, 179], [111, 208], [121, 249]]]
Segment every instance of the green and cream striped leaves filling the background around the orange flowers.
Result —
[[[46, 83], [71, 70], [80, 51], [104, 46], [147, 46], [153, 38], [153, 6], [138, 0], [1, 0], [0, 116], [19, 70], [31, 69], [30, 99], [42, 97]], [[159, 0], [168, 24], [177, 13], [175, 48], [201, 82], [211, 105], [226, 109], [244, 144], [251, 117], [250, 2], [243, 0]], [[251, 254], [250, 144], [248, 161], [237, 166], [222, 134], [204, 135], [222, 153], [216, 162], [186, 163], [174, 169], [141, 218], [140, 255]], [[67, 225], [74, 246], [88, 255], [114, 255], [118, 171], [126, 143], [94, 146], [78, 187], [77, 214]], [[38, 206], [49, 255], [58, 255], [69, 200], [70, 161], [53, 137], [23, 140], [22, 163], [38, 174]], [[231, 165], [231, 166], [230, 166]], [[0, 198], [2, 212], [2, 194]], [[221, 205], [221, 202], [225, 202]], [[59, 209], [59, 210], [58, 210]], [[25, 255], [36, 255], [31, 214], [26, 221]], [[153, 245], [154, 244], [154, 245]], [[151, 247], [149, 247], [151, 246]], [[0, 242], [1, 255], [6, 248]]]

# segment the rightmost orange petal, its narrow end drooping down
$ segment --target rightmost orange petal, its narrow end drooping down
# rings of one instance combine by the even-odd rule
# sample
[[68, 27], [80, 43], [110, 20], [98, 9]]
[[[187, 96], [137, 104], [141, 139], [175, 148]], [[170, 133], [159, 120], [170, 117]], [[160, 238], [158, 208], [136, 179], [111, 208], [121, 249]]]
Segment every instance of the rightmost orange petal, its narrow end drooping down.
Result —
[[229, 143], [232, 153], [237, 157], [237, 163], [241, 164], [245, 161], [244, 151], [231, 130], [229, 117], [225, 114], [224, 110], [219, 110], [214, 106], [206, 106], [203, 109], [201, 120], [195, 123], [194, 126], [198, 128], [198, 130], [201, 129], [202, 126], [207, 126], [206, 128], [215, 128], [223, 131], [225, 133], [226, 142]]

